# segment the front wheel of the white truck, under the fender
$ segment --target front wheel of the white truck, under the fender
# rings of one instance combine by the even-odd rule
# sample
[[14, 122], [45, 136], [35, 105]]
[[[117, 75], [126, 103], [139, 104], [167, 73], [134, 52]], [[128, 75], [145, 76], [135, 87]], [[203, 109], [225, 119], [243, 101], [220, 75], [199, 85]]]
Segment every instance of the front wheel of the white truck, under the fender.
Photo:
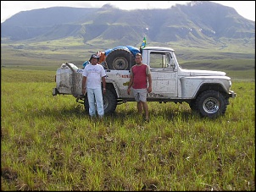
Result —
[[227, 103], [225, 97], [214, 90], [204, 91], [196, 100], [198, 112], [202, 117], [208, 118], [217, 118], [224, 114]]

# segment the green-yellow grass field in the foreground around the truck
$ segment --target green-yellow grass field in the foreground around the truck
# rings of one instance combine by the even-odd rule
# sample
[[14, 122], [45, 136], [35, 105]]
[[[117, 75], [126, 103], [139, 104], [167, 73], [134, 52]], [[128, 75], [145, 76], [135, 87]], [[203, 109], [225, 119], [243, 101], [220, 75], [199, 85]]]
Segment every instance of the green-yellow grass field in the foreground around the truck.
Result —
[[75, 97], [52, 96], [56, 68], [31, 69], [1, 70], [2, 190], [255, 190], [253, 76], [233, 74], [220, 118], [149, 102], [143, 123], [135, 102], [91, 121]]

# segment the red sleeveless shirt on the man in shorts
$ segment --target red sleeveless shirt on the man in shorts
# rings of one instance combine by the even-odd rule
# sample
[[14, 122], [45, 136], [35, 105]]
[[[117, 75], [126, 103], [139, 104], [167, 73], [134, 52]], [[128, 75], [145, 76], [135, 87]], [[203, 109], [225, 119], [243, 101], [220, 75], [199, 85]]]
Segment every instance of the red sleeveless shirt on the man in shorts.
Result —
[[131, 68], [131, 75], [133, 75], [134, 89], [145, 89], [147, 88], [147, 65], [142, 64], [141, 66], [134, 65]]

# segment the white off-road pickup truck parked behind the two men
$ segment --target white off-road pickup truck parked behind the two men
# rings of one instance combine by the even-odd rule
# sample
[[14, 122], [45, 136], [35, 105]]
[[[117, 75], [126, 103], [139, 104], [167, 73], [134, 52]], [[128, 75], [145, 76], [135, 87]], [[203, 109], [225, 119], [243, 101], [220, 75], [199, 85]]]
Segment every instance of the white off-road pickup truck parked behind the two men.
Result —
[[[187, 102], [192, 111], [199, 112], [202, 117], [217, 118], [225, 113], [229, 98], [237, 95], [231, 91], [231, 78], [225, 76], [225, 72], [182, 69], [175, 51], [167, 47], [144, 47], [141, 52], [142, 63], [150, 66], [153, 81], [153, 91], [147, 94], [147, 101]], [[115, 55], [117, 64], [105, 63], [112, 66], [111, 69], [105, 68], [105, 114], [114, 112], [118, 104], [135, 101], [133, 94], [127, 94], [131, 65], [135, 64], [134, 56], [131, 53], [131, 59], [127, 62], [125, 58]], [[127, 69], [122, 69], [123, 65], [128, 65]], [[119, 69], [114, 69], [113, 66]], [[82, 71], [72, 63], [63, 63], [57, 70], [53, 96], [73, 95], [88, 111], [87, 96], [83, 96], [81, 91]]]

